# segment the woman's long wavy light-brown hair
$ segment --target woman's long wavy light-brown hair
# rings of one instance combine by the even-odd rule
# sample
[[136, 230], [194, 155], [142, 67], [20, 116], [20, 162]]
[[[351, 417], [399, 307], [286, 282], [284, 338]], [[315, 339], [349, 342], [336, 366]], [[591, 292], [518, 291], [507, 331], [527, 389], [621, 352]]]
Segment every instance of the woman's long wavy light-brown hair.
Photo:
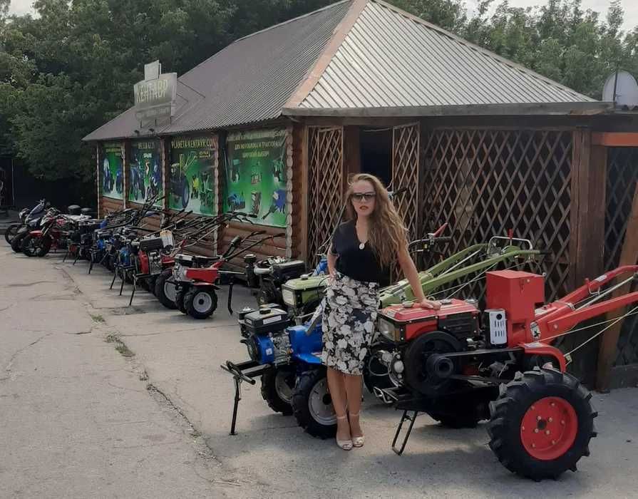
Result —
[[352, 205], [352, 185], [361, 180], [370, 182], [376, 194], [374, 211], [369, 215], [371, 223], [368, 227], [368, 242], [379, 263], [389, 267], [396, 262], [398, 251], [408, 245], [408, 230], [392, 204], [386, 187], [379, 178], [369, 173], [357, 173], [350, 180], [346, 191], [346, 214], [349, 220], [356, 221], [356, 211]]

